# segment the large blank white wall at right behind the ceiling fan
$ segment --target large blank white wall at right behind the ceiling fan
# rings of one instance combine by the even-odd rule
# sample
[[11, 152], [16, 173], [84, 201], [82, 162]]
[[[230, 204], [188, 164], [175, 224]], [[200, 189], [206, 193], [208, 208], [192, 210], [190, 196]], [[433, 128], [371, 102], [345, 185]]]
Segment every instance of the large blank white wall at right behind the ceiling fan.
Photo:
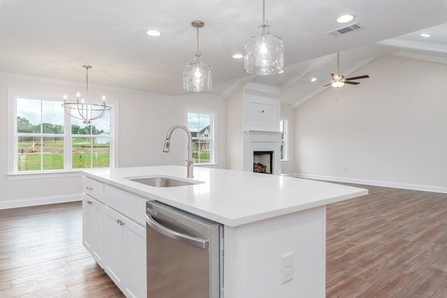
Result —
[[383, 57], [295, 110], [308, 177], [447, 192], [447, 66]]

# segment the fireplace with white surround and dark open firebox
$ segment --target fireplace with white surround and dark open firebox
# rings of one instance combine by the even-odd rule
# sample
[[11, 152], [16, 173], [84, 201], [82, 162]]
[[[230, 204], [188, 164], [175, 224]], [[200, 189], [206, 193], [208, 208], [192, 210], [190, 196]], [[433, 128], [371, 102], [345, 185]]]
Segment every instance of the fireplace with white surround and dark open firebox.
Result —
[[244, 170], [281, 174], [281, 133], [246, 131], [244, 147]]

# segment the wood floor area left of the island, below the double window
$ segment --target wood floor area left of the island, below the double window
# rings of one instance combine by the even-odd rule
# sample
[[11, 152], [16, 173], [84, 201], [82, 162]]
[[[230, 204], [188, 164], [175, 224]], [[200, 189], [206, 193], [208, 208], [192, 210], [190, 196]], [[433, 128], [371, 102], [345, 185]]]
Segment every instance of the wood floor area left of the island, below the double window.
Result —
[[0, 210], [0, 297], [124, 297], [82, 246], [81, 202]]

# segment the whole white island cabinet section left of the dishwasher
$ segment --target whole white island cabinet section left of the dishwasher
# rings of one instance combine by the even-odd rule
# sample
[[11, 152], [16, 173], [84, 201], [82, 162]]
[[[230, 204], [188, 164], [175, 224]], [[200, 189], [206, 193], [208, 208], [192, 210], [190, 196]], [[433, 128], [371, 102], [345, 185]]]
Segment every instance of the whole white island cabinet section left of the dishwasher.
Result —
[[82, 242], [126, 297], [145, 298], [146, 200], [84, 177]]

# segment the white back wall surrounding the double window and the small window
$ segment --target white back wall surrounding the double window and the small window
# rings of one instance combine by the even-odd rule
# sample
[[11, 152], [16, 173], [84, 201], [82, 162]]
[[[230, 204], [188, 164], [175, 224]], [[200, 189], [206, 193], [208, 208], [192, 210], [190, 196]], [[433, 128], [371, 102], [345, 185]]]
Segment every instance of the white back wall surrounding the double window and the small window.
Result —
[[[0, 137], [8, 135], [8, 89], [43, 94], [76, 94], [85, 84], [45, 80], [16, 75], [0, 75]], [[186, 124], [186, 109], [197, 107], [216, 112], [217, 167], [225, 167], [225, 119], [226, 103], [212, 94], [184, 94], [169, 96], [142, 91], [115, 89], [89, 85], [90, 96], [105, 94], [119, 105], [119, 167], [139, 165], [183, 165], [186, 157], [186, 135], [173, 134], [173, 147], [169, 154], [161, 151], [168, 128], [174, 124]], [[54, 200], [75, 200], [81, 193], [81, 179], [60, 174], [58, 177], [36, 179], [12, 179], [7, 176], [7, 144], [0, 146], [0, 209], [17, 205], [38, 204]], [[186, 171], [186, 170], [185, 170]], [[186, 173], [186, 172], [185, 172]]]

